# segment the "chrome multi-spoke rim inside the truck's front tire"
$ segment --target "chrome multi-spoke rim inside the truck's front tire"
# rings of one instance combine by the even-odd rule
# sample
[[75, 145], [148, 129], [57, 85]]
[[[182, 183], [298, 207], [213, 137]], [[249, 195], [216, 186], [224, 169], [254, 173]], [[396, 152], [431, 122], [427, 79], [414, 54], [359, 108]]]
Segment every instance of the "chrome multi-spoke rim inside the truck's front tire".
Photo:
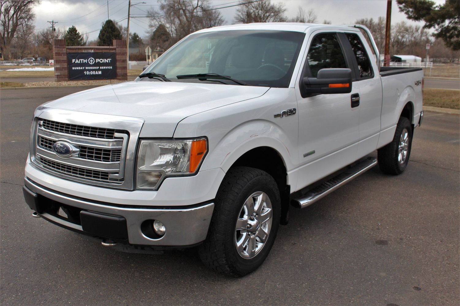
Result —
[[262, 250], [270, 234], [272, 214], [266, 193], [255, 192], [246, 199], [235, 227], [236, 250], [242, 258], [251, 259]]

